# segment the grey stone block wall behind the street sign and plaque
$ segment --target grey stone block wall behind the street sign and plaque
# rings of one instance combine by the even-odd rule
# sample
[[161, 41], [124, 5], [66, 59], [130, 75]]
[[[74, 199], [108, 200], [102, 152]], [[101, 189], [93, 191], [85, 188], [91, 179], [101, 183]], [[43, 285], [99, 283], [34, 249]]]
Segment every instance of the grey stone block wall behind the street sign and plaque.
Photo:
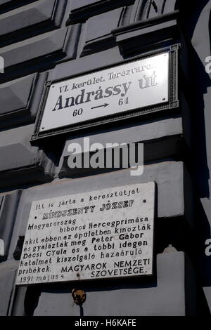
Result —
[[[79, 284], [15, 286], [32, 202], [148, 181], [158, 187], [155, 276], [81, 283], [84, 316], [210, 313], [210, 7], [209, 0], [0, 0], [0, 315], [82, 313], [71, 296]], [[174, 44], [177, 110], [30, 143], [46, 81]], [[68, 143], [87, 136], [143, 143], [143, 175], [70, 170]]]

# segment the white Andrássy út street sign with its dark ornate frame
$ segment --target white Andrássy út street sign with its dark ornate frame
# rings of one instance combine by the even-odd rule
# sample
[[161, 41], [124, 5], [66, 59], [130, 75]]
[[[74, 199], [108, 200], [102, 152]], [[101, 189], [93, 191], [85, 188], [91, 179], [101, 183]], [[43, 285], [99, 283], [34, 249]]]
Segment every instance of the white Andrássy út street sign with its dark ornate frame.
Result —
[[79, 77], [48, 81], [32, 140], [164, 110], [172, 103], [176, 107], [176, 54], [177, 48]]

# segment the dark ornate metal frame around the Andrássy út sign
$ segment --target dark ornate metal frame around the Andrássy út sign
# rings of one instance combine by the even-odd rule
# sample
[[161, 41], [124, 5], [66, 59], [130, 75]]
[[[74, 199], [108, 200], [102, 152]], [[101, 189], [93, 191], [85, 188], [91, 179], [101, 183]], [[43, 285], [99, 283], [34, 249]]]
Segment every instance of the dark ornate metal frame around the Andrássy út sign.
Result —
[[[136, 62], [138, 60], [144, 60], [147, 58], [152, 58], [155, 55], [161, 55], [164, 53], [169, 53], [169, 98], [165, 103], [158, 103], [156, 105], [150, 105], [148, 107], [139, 107], [136, 109], [131, 109], [128, 111], [118, 112], [112, 115], [106, 115], [99, 118], [82, 121], [82, 123], [77, 124], [68, 124], [67, 126], [62, 126], [59, 128], [53, 128], [49, 131], [41, 131], [41, 121], [44, 117], [44, 110], [46, 106], [46, 102], [49, 95], [49, 89], [52, 84], [56, 84], [59, 82], [67, 81], [69, 79], [74, 79], [78, 77], [83, 77], [87, 74], [94, 74], [96, 72], [101, 72], [102, 70], [111, 69], [113, 67], [117, 67], [120, 65], [128, 64], [130, 62]], [[114, 121], [119, 121], [122, 119], [128, 119], [132, 117], [141, 116], [143, 114], [150, 114], [153, 112], [160, 112], [162, 110], [172, 110], [179, 107], [179, 98], [178, 98], [178, 62], [179, 62], [179, 44], [174, 46], [170, 46], [168, 48], [164, 48], [160, 51], [154, 51], [150, 55], [142, 55], [136, 58], [132, 58], [130, 60], [124, 60], [121, 62], [117, 62], [110, 66], [100, 67], [97, 70], [87, 71], [80, 74], [75, 74], [69, 77], [64, 77], [63, 79], [56, 79], [53, 81], [46, 81], [44, 92], [41, 98], [41, 103], [39, 107], [39, 112], [37, 114], [37, 120], [35, 122], [34, 133], [31, 138], [31, 142], [43, 138], [47, 138], [50, 136], [56, 136], [58, 134], [69, 133], [72, 131], [79, 131], [83, 128], [89, 128], [93, 126], [98, 126], [101, 124], [107, 124]]]

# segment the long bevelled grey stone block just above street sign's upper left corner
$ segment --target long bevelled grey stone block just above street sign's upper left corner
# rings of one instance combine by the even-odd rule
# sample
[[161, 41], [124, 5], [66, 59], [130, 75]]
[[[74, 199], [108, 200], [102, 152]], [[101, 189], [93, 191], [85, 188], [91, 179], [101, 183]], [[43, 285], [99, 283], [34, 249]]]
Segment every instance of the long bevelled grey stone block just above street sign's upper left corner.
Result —
[[77, 51], [79, 25], [40, 34], [18, 43], [1, 48], [4, 72], [0, 82], [47, 70], [56, 62], [72, 60]]

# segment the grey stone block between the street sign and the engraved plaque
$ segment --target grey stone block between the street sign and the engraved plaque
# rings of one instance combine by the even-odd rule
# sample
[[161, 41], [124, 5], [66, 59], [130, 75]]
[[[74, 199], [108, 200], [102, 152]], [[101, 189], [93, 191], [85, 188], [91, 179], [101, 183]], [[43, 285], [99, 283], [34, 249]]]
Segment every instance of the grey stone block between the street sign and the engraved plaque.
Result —
[[[136, 120], [135, 125], [127, 125], [122, 128], [117, 128], [113, 130], [104, 130], [103, 133], [93, 133], [89, 137], [89, 146], [94, 143], [101, 143], [103, 145], [103, 150], [101, 152], [106, 154], [108, 149], [108, 143], [143, 143], [143, 160], [147, 164], [149, 161], [155, 161], [158, 159], [167, 159], [170, 157], [177, 157], [179, 152], [179, 144], [182, 144], [181, 135], [183, 133], [182, 119], [179, 116], [174, 117], [162, 117], [162, 119], [151, 119], [148, 121]], [[77, 143], [80, 145], [82, 152], [81, 156], [84, 157], [84, 138], [87, 136], [81, 136], [80, 138], [68, 138], [65, 143], [65, 148], [60, 162], [60, 177], [65, 176], [81, 176], [82, 173], [91, 173], [96, 171], [108, 171], [108, 169], [70, 169], [68, 166], [68, 157], [71, 152], [68, 152], [68, 146], [71, 143]], [[117, 147], [116, 150], [120, 147]], [[127, 149], [127, 152], [129, 149]], [[89, 159], [91, 158], [91, 153], [89, 154]], [[132, 166], [133, 164], [130, 164]]]

